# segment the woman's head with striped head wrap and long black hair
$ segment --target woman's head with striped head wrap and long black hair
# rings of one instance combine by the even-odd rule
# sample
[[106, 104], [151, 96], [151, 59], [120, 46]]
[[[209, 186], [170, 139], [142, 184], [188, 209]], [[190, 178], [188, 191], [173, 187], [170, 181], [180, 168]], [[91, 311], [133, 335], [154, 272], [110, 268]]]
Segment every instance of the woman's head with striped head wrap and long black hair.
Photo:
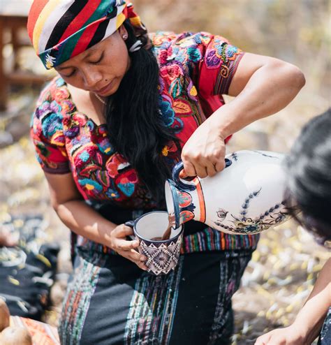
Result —
[[124, 0], [34, 0], [28, 19], [46, 68], [68, 84], [108, 96], [110, 142], [156, 199], [170, 168], [161, 154], [175, 130], [160, 113], [159, 65], [147, 30]]

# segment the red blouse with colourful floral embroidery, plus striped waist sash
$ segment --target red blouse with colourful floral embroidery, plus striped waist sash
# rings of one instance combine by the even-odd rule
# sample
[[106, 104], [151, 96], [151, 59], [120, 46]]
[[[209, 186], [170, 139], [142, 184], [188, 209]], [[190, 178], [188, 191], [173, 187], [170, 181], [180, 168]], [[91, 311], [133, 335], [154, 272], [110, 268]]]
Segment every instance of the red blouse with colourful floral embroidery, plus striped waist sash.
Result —
[[[182, 146], [217, 108], [243, 52], [221, 36], [200, 32], [156, 32], [152, 50], [159, 62], [159, 104], [165, 126], [175, 129]], [[71, 172], [89, 203], [152, 210], [152, 196], [135, 170], [96, 125], [76, 108], [66, 82], [57, 77], [43, 89], [31, 121], [36, 156], [47, 173]], [[173, 143], [162, 151], [170, 167], [180, 159]], [[184, 237], [183, 252], [255, 248], [258, 235], [227, 235], [212, 228]]]

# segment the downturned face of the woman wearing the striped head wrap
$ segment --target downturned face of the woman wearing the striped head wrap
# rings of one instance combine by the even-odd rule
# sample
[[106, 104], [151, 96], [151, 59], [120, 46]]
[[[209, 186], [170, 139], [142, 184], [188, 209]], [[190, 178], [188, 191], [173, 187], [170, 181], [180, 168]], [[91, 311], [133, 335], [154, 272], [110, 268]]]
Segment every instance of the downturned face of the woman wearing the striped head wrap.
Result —
[[130, 58], [124, 42], [127, 31], [122, 25], [112, 36], [85, 52], [57, 66], [61, 77], [73, 87], [110, 96], [119, 88], [130, 68]]

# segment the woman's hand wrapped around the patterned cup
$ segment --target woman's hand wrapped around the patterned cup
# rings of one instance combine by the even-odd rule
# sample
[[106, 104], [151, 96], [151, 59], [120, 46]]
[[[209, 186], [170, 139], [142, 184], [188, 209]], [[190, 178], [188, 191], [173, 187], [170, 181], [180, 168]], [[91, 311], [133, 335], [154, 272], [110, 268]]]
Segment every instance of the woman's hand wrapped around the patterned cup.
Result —
[[120, 224], [110, 233], [110, 247], [119, 255], [131, 260], [135, 265], [146, 271], [145, 261], [147, 258], [135, 250], [139, 247], [137, 240], [126, 240], [126, 236], [130, 235], [133, 235], [133, 229], [130, 226]]

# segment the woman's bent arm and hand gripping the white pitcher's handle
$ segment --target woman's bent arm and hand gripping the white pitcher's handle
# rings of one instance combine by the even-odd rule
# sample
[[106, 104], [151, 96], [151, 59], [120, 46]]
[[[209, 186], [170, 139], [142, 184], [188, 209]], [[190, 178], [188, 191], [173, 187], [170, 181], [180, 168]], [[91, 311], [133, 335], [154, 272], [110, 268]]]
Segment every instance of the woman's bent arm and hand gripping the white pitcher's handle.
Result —
[[216, 110], [182, 150], [184, 175], [213, 176], [224, 168], [224, 139], [284, 108], [304, 86], [299, 68], [272, 57], [246, 53], [228, 94], [235, 99]]

